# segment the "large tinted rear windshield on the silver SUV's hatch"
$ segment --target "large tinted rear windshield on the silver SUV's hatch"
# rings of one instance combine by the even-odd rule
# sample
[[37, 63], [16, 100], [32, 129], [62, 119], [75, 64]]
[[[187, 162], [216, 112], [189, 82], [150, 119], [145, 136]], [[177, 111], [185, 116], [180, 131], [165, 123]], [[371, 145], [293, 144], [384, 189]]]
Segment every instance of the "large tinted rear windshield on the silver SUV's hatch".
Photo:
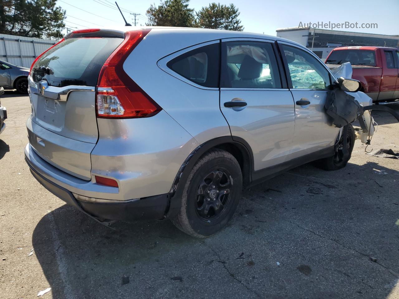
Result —
[[[69, 38], [44, 53], [33, 66], [33, 80], [45, 80], [48, 85], [95, 86], [101, 67], [122, 43], [122, 38]], [[39, 67], [47, 67], [47, 74]], [[49, 73], [49, 74], [48, 74]]]

